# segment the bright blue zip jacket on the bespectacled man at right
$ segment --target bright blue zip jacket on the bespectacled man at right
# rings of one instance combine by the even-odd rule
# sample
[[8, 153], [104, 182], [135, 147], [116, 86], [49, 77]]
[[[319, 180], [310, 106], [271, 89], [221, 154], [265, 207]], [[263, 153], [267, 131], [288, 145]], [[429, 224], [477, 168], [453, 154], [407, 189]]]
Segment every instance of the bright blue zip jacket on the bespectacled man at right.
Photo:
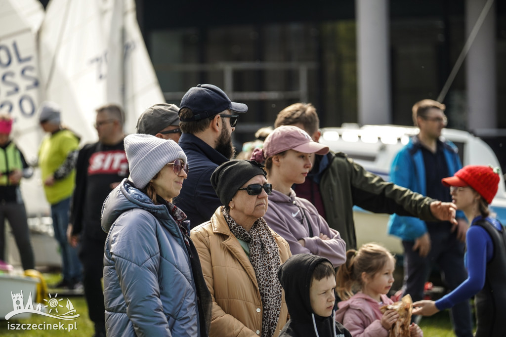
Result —
[[[447, 177], [451, 177], [462, 167], [457, 154], [457, 147], [446, 140], [442, 140], [441, 144], [448, 167]], [[390, 178], [396, 185], [427, 195], [424, 156], [421, 153], [421, 144], [418, 137], [411, 137], [409, 143], [397, 153], [392, 162]], [[461, 210], [457, 210], [456, 218], [465, 219]], [[388, 233], [390, 235], [398, 236], [402, 240], [414, 241], [426, 232], [427, 225], [423, 220], [397, 214], [390, 216], [388, 222]]]

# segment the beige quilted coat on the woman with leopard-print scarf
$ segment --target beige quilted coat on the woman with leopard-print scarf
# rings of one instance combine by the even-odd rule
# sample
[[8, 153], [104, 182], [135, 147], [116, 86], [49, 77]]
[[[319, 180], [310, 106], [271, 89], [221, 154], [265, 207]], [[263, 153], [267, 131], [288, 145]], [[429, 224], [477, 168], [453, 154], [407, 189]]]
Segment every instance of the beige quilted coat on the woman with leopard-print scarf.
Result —
[[[281, 263], [290, 256], [288, 243], [274, 231]], [[262, 334], [262, 300], [255, 270], [218, 208], [211, 220], [195, 227], [191, 238], [197, 248], [205, 282], [213, 298], [209, 336]], [[276, 337], [288, 320], [284, 291]]]

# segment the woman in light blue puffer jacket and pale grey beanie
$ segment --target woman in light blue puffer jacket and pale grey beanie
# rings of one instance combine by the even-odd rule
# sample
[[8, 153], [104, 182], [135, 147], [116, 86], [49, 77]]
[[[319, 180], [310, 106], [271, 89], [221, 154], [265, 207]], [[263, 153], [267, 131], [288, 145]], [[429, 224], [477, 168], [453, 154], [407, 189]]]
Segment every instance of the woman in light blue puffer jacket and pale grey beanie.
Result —
[[151, 135], [124, 145], [130, 177], [102, 207], [107, 335], [206, 336], [210, 294], [186, 215], [171, 202], [188, 175], [186, 155]]

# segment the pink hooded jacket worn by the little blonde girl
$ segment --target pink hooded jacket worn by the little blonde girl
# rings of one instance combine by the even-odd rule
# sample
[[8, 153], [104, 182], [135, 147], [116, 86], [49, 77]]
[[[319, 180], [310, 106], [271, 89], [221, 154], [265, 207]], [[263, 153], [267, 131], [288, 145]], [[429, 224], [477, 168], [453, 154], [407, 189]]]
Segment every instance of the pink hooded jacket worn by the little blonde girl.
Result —
[[[381, 299], [384, 305], [394, 302], [386, 295]], [[381, 325], [382, 312], [379, 303], [362, 292], [347, 301], [338, 303], [335, 320], [342, 323], [353, 337], [387, 337], [388, 330]]]

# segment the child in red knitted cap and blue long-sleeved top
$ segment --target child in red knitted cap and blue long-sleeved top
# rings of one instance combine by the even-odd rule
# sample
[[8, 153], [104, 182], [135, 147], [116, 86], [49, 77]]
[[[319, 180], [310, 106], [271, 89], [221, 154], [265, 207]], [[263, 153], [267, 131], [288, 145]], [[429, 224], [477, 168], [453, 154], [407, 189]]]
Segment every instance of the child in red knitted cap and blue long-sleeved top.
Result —
[[499, 168], [468, 165], [442, 183], [471, 222], [466, 235], [469, 276], [436, 302], [415, 302], [413, 315], [431, 316], [476, 295], [476, 336], [506, 336], [506, 229], [488, 209], [497, 193]]

